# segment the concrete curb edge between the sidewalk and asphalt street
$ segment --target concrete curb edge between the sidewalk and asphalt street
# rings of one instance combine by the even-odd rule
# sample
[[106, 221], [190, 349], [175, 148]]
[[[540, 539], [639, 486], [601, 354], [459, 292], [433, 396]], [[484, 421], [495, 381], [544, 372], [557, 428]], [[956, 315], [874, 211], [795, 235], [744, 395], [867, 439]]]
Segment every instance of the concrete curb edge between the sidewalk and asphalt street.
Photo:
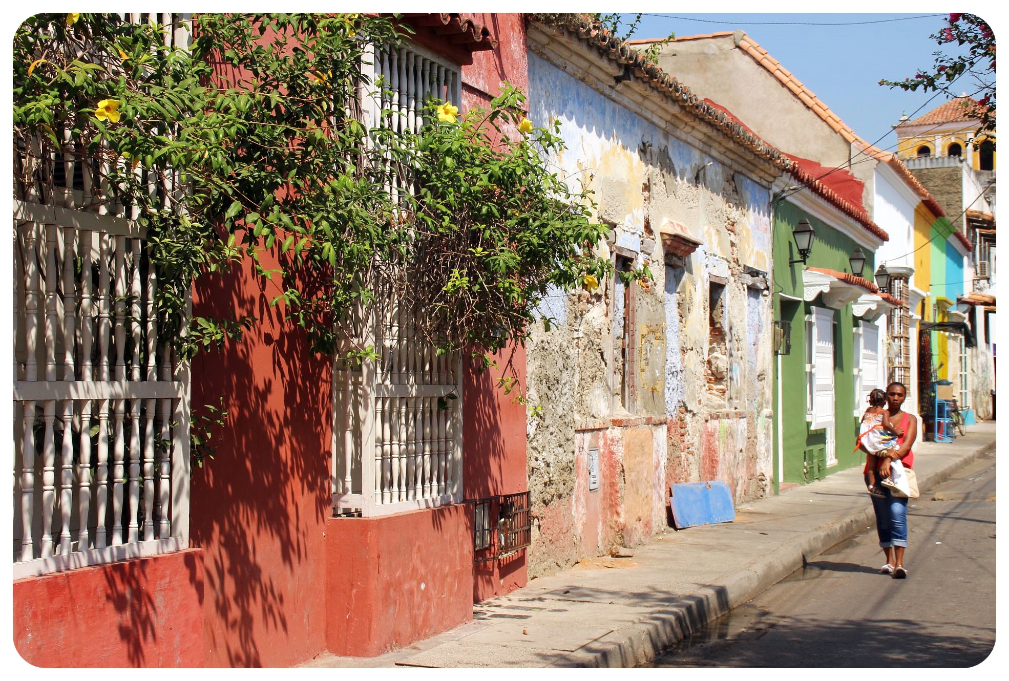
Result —
[[[922, 491], [943, 482], [964, 464], [995, 450], [995, 441], [959, 457], [938, 470], [922, 475]], [[734, 607], [759, 595], [792, 574], [806, 562], [874, 523], [872, 508], [856, 512], [798, 538], [774, 553], [755, 560], [720, 582], [670, 603], [668, 611], [656, 612], [619, 632], [594, 641], [567, 656], [558, 667], [633, 668], [651, 662], [667, 648], [679, 643]]]

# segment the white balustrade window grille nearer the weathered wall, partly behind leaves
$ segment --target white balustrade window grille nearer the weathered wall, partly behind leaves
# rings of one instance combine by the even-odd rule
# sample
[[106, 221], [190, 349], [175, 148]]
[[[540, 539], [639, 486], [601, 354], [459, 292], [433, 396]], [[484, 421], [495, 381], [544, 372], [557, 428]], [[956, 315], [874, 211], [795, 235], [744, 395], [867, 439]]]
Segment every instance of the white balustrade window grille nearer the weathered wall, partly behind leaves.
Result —
[[[370, 62], [370, 64], [368, 64]], [[369, 129], [416, 132], [431, 99], [460, 104], [458, 67], [419, 46], [374, 47], [362, 71]], [[373, 137], [372, 137], [373, 139]], [[397, 180], [393, 196], [412, 188]], [[334, 514], [380, 516], [462, 500], [462, 361], [439, 354], [416, 311], [387, 290], [357, 311], [357, 342], [375, 361], [333, 370]]]

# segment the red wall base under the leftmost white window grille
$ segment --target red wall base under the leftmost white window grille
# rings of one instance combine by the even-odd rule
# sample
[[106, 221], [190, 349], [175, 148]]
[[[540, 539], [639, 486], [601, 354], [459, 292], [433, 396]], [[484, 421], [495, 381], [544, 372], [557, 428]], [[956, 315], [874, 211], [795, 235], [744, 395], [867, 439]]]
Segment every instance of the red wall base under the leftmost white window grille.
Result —
[[202, 667], [203, 552], [14, 582], [14, 647], [37, 667]]

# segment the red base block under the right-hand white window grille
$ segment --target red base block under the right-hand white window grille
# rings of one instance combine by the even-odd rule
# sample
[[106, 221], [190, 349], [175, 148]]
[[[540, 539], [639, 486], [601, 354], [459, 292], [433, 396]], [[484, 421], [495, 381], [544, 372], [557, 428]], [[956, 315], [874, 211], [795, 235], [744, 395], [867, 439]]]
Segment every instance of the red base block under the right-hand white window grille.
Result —
[[466, 504], [326, 524], [326, 643], [375, 656], [473, 615], [472, 510]]

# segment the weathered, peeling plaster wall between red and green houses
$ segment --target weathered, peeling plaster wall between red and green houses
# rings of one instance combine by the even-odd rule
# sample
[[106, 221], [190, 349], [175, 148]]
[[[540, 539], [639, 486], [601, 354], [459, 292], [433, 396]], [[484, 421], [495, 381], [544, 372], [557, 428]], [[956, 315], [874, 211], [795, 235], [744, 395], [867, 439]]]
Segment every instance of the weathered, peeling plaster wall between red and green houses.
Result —
[[[744, 267], [769, 271], [771, 231], [767, 188], [547, 60], [529, 59], [530, 118], [536, 125], [560, 121], [567, 148], [552, 160], [572, 187], [593, 190], [598, 219], [613, 227], [602, 254], [630, 255], [654, 275], [630, 285], [629, 405], [619, 396], [613, 368], [623, 301], [613, 293], [621, 285], [558, 292], [541, 306], [552, 330], [535, 325], [527, 345], [529, 569], [537, 575], [662, 531], [671, 482], [724, 479], [738, 501], [767, 493], [770, 422], [763, 410], [771, 408], [771, 348], [762, 320], [770, 318], [770, 299], [756, 285], [748, 288]], [[702, 244], [666, 266], [664, 230]], [[726, 281], [717, 310], [720, 352], [709, 347], [711, 275]], [[709, 387], [711, 374], [717, 376]], [[591, 491], [590, 450], [599, 461], [599, 488]], [[555, 541], [561, 538], [567, 541]]]

